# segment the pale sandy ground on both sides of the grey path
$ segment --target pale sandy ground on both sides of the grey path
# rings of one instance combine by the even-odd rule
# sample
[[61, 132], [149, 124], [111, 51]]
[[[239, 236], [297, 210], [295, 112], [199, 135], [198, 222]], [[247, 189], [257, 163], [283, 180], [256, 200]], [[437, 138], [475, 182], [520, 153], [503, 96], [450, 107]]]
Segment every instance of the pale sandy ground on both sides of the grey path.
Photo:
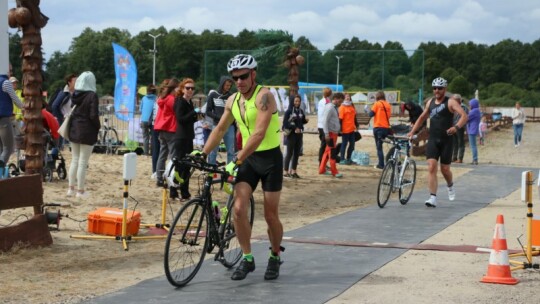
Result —
[[[315, 117], [309, 126], [315, 127]], [[528, 166], [540, 154], [538, 134], [540, 124], [527, 124], [523, 145], [517, 149], [512, 142], [511, 129], [492, 132], [485, 146], [479, 147], [480, 165], [486, 163]], [[380, 171], [372, 166], [339, 166], [343, 179], [317, 174], [318, 137], [306, 134], [304, 156], [300, 159], [300, 180], [285, 180], [280, 215], [285, 230], [336, 215], [349, 210], [376, 204], [376, 189]], [[356, 150], [370, 153], [371, 164], [375, 161], [372, 138], [364, 137]], [[63, 153], [70, 162], [70, 153]], [[467, 150], [464, 161], [471, 162]], [[64, 215], [59, 231], [51, 231], [54, 244], [46, 248], [13, 248], [0, 253], [0, 302], [1, 303], [76, 303], [105, 293], [122, 289], [142, 280], [163, 276], [164, 240], [137, 240], [129, 243], [124, 251], [115, 240], [74, 239], [71, 235], [87, 235], [86, 218], [99, 207], [122, 207], [122, 156], [94, 154], [90, 158], [88, 191], [91, 197], [77, 201], [65, 197], [67, 181], [55, 180], [44, 184], [46, 203], [60, 203]], [[426, 195], [426, 168], [423, 157], [417, 158], [418, 181], [415, 195]], [[540, 164], [536, 164], [540, 167]], [[150, 179], [150, 158], [137, 158], [137, 178], [133, 180], [129, 194], [129, 208], [142, 214], [144, 223], [159, 223], [161, 189]], [[453, 166], [456, 179], [468, 169]], [[331, 182], [331, 184], [329, 183]], [[192, 193], [196, 183], [191, 183]], [[354, 191], [351, 191], [354, 189]], [[255, 194], [256, 221], [254, 235], [266, 230], [262, 217], [260, 190]], [[215, 196], [223, 199], [219, 191]], [[471, 214], [443, 232], [426, 240], [436, 244], [474, 244], [489, 247], [495, 214], [506, 216], [507, 235], [523, 232], [525, 209], [516, 206], [519, 193], [513, 193], [481, 211]], [[181, 207], [178, 201], [168, 202], [165, 210], [168, 222]], [[507, 213], [508, 209], [508, 213]], [[510, 215], [510, 212], [513, 212]], [[19, 215], [31, 216], [31, 211], [14, 209], [2, 211], [0, 225], [15, 220]], [[507, 215], [508, 214], [508, 215]], [[510, 227], [508, 227], [510, 226]], [[521, 229], [521, 230], [520, 230]], [[141, 229], [141, 234], [146, 229]], [[509, 240], [510, 248], [519, 248], [516, 241]], [[464, 302], [528, 302], [538, 286], [538, 272], [517, 272], [522, 282], [514, 287], [477, 283], [487, 267], [488, 256], [484, 254], [443, 253], [408, 251], [400, 258], [364, 278], [333, 303], [386, 303], [402, 302], [445, 303]], [[437, 280], [433, 280], [437, 277]], [[366, 286], [367, 284], [367, 286]], [[536, 290], [533, 289], [536, 287]], [[512, 292], [505, 292], [506, 290]]]

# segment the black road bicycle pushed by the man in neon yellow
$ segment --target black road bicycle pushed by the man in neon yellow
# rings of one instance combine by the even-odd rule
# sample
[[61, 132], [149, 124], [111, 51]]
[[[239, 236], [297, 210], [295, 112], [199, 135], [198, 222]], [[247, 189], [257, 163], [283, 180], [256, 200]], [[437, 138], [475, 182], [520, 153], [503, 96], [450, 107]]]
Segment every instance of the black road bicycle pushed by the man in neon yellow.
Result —
[[[234, 184], [233, 176], [224, 168], [225, 163], [212, 165], [190, 155], [174, 162], [176, 168], [187, 166], [191, 173], [194, 170], [203, 173], [199, 178], [198, 195], [178, 211], [165, 243], [165, 275], [173, 286], [182, 287], [195, 277], [206, 253], [211, 253], [215, 247], [218, 249], [214, 260], [227, 268], [238, 263], [242, 250], [233, 224], [234, 190], [221, 209], [212, 200], [214, 184], [219, 184], [221, 188]], [[220, 177], [214, 178], [216, 174]], [[255, 201], [252, 196], [248, 210], [250, 225], [253, 225], [254, 214]]]

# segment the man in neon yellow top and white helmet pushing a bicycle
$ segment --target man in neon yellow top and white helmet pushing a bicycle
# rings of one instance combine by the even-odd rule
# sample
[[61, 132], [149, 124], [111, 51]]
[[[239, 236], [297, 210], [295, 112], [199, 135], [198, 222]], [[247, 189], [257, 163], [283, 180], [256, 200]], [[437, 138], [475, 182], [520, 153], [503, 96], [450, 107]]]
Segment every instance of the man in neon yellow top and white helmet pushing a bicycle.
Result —
[[243, 258], [231, 279], [243, 280], [255, 270], [251, 252], [251, 225], [247, 216], [249, 199], [261, 181], [264, 193], [264, 218], [271, 244], [265, 280], [275, 280], [281, 265], [280, 251], [283, 225], [279, 220], [279, 200], [283, 184], [283, 155], [280, 149], [280, 123], [277, 104], [267, 88], [257, 84], [257, 62], [250, 55], [236, 55], [227, 64], [227, 71], [236, 83], [238, 93], [227, 100], [225, 112], [203, 148], [208, 155], [220, 142], [229, 126], [236, 121], [242, 134], [243, 149], [227, 165], [236, 172], [234, 227]]

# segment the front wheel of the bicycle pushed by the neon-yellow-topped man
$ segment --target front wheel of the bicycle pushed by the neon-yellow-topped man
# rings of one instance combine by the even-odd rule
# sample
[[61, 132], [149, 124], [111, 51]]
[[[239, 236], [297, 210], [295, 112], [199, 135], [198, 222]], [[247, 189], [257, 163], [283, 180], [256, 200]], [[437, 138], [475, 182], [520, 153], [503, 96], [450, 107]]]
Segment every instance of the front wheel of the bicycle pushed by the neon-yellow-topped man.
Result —
[[187, 202], [176, 214], [165, 242], [165, 275], [173, 286], [189, 283], [204, 260], [208, 247], [208, 212], [201, 199]]

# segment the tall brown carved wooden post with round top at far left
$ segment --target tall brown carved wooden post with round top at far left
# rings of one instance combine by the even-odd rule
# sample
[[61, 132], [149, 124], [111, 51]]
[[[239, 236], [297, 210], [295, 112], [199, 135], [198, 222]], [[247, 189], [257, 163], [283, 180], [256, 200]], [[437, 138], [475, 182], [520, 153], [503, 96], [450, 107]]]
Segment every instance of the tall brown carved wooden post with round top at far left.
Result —
[[25, 172], [41, 173], [43, 169], [43, 76], [41, 66], [41, 29], [49, 18], [39, 9], [39, 0], [17, 0], [17, 8], [8, 12], [8, 23], [12, 28], [21, 28], [22, 86], [24, 92]]

